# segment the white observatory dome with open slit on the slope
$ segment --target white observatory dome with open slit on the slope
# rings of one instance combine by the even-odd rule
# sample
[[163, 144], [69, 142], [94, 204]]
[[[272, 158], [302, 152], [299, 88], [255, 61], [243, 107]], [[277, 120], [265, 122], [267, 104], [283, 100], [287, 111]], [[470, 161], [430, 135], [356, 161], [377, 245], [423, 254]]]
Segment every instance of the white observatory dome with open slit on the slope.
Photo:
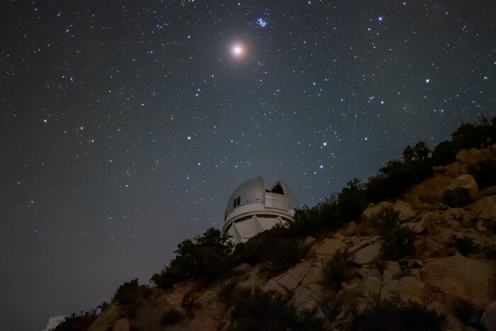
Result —
[[264, 179], [255, 177], [237, 186], [225, 208], [222, 233], [231, 235], [232, 242], [246, 242], [257, 233], [290, 220], [298, 208], [295, 193], [277, 181], [266, 189]]

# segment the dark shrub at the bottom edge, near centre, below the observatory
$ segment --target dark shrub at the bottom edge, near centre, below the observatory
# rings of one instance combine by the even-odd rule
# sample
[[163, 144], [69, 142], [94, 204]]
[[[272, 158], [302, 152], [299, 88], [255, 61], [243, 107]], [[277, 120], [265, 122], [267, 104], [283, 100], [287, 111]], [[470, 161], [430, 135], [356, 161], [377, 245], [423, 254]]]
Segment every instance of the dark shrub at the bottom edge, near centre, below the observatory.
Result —
[[322, 330], [312, 313], [296, 313], [276, 291], [240, 288], [226, 302], [235, 323], [229, 330]]

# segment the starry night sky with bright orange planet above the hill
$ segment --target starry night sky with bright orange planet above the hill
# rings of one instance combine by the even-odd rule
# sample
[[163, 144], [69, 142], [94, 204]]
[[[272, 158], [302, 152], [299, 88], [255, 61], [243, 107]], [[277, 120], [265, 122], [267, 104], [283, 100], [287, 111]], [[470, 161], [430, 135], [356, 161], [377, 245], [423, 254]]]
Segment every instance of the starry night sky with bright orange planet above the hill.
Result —
[[147, 284], [242, 181], [314, 206], [496, 115], [496, 1], [1, 1], [0, 328]]

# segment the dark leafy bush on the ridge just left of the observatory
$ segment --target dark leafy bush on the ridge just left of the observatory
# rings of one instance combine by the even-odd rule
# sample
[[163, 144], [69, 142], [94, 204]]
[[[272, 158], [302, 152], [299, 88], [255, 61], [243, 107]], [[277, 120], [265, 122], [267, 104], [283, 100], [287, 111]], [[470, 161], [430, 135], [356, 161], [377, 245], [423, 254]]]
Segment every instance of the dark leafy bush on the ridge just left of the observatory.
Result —
[[220, 230], [210, 228], [201, 237], [184, 240], [175, 251], [176, 258], [151, 281], [160, 288], [185, 279], [202, 276], [207, 281], [216, 279], [232, 267], [232, 243]]

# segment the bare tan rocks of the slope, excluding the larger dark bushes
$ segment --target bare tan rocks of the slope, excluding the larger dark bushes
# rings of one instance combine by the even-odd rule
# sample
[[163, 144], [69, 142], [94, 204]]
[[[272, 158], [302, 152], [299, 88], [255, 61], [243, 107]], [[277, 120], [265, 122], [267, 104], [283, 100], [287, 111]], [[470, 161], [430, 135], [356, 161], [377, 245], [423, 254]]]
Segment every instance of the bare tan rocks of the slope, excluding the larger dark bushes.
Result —
[[[232, 309], [222, 293], [239, 288], [281, 293], [296, 312], [325, 320], [325, 330], [347, 330], [354, 315], [388, 300], [412, 301], [444, 314], [446, 330], [496, 330], [496, 187], [479, 190], [469, 174], [496, 160], [496, 145], [461, 150], [456, 159], [435, 167], [434, 177], [401, 199], [371, 204], [361, 220], [318, 240], [308, 237], [308, 254], [291, 269], [274, 274], [263, 265], [242, 264], [208, 286], [191, 279], [167, 291], [153, 288], [133, 313], [114, 303], [90, 330], [228, 330]], [[415, 253], [395, 262], [382, 259], [383, 237], [372, 221], [388, 206], [401, 213], [402, 227], [416, 233]], [[479, 249], [463, 256], [457, 250], [463, 245], [453, 245], [453, 236]], [[322, 268], [338, 250], [347, 252], [354, 268], [346, 281], [329, 287]], [[331, 318], [324, 306], [334, 310]], [[164, 321], [166, 311], [179, 314]]]

